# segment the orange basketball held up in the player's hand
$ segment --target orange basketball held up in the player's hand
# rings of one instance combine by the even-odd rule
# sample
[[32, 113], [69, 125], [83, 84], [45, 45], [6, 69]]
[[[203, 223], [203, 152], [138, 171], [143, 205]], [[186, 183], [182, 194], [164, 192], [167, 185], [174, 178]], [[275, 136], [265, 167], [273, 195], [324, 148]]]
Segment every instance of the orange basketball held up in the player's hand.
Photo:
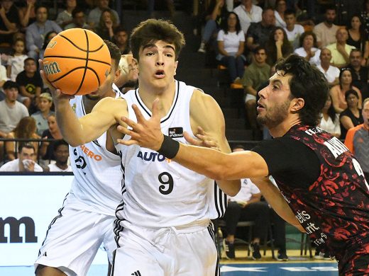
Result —
[[62, 93], [84, 95], [97, 91], [111, 66], [109, 49], [91, 30], [64, 30], [50, 40], [43, 58], [48, 81]]

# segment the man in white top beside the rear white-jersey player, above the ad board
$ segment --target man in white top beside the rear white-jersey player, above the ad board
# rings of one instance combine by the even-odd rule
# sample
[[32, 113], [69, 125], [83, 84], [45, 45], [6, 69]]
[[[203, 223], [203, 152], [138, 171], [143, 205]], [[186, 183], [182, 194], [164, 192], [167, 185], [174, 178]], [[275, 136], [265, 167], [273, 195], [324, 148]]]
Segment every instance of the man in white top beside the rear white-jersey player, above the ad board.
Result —
[[72, 167], [67, 164], [69, 158], [69, 145], [64, 140], [56, 140], [53, 146], [55, 163], [50, 163], [44, 171], [65, 172], [72, 171]]

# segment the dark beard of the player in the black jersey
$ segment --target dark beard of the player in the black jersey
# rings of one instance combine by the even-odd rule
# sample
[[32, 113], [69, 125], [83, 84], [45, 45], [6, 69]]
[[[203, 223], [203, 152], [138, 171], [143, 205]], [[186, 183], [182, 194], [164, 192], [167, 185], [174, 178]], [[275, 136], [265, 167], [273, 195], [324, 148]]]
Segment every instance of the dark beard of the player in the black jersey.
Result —
[[286, 100], [284, 103], [275, 105], [272, 108], [266, 108], [265, 115], [258, 114], [256, 120], [258, 124], [265, 125], [269, 130], [285, 120], [288, 115], [291, 100]]

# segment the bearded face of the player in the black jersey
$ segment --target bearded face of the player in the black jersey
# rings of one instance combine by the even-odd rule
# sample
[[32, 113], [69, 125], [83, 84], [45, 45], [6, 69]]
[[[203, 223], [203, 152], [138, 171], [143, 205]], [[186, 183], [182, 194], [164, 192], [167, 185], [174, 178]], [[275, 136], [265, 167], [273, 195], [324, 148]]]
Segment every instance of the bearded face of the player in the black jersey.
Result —
[[271, 78], [270, 83], [259, 91], [258, 117], [260, 124], [268, 129], [277, 127], [290, 112], [290, 84], [291, 75], [283, 76], [283, 71], [277, 71]]

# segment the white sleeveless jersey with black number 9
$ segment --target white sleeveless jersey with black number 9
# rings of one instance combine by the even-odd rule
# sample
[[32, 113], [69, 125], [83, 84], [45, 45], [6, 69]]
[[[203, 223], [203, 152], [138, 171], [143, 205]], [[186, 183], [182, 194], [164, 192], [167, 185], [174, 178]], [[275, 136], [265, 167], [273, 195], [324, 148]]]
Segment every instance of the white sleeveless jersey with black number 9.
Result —
[[[161, 119], [161, 130], [177, 141], [187, 143], [183, 132], [194, 135], [189, 122], [189, 100], [196, 88], [179, 81], [175, 86], [175, 98], [169, 113]], [[150, 118], [151, 112], [138, 90], [128, 91], [124, 98], [131, 120], [137, 121], [133, 103], [146, 119]], [[123, 172], [123, 201], [116, 209], [121, 226], [192, 226], [223, 216], [226, 196], [214, 180], [138, 145], [116, 144], [116, 149], [121, 155]], [[119, 231], [119, 226], [116, 230]]]

